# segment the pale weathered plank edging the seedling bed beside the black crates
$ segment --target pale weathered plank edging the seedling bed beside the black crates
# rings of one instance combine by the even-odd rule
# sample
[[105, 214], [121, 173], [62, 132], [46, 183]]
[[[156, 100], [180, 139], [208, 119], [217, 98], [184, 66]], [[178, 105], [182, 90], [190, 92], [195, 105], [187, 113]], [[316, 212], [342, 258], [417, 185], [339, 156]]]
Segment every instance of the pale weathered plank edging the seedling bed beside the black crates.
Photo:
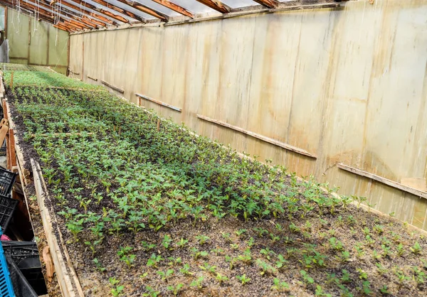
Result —
[[[36, 162], [32, 158], [31, 167], [33, 168], [34, 187], [36, 188], [37, 202], [40, 209], [41, 220], [43, 222], [43, 229], [45, 230], [46, 241], [48, 242], [49, 249], [51, 249], [51, 256], [53, 265], [55, 266], [60, 291], [64, 297], [83, 297], [84, 294], [83, 290], [81, 290], [80, 283], [75, 283], [75, 278], [70, 276], [68, 273], [68, 269], [70, 269], [70, 267], [65, 264], [63, 259], [63, 250], [59, 247], [58, 237], [56, 237], [56, 232], [53, 230], [52, 226], [52, 217], [48, 207], [46, 207], [45, 204], [45, 200], [48, 199], [48, 196], [43, 190], [40, 166], [37, 166]], [[72, 273], [72, 271], [70, 272]], [[73, 285], [76, 286], [77, 290], [73, 287]]]

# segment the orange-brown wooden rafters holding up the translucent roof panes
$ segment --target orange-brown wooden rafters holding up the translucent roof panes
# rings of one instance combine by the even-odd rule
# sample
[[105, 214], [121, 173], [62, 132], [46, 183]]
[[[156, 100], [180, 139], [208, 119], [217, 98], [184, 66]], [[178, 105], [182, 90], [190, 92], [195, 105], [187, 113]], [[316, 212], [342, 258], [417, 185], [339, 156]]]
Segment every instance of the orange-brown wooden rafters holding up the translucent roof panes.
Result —
[[[95, 2], [94, 5], [91, 2]], [[110, 0], [0, 0], [0, 5], [7, 6], [11, 9], [17, 9], [19, 6], [32, 13], [26, 13], [32, 16], [38, 16], [39, 20], [52, 23], [56, 28], [61, 30], [76, 32], [96, 30], [99, 28], [107, 28], [109, 26], [120, 26], [123, 23], [128, 23], [131, 26], [135, 23], [153, 23], [164, 22], [169, 24], [176, 17], [168, 16], [158, 9], [150, 7], [148, 4], [142, 4], [138, 0], [115, 0], [120, 3], [112, 4]], [[181, 15], [179, 21], [174, 23], [192, 22], [209, 19], [206, 15], [196, 15], [194, 12], [179, 6], [169, 0], [151, 0], [152, 2], [162, 5], [167, 9], [176, 11]], [[253, 0], [254, 6], [232, 9], [220, 0], [192, 0], [198, 1], [201, 4], [209, 6], [211, 9], [223, 14], [224, 18], [239, 16], [245, 11], [249, 13], [265, 13], [275, 10], [294, 10], [310, 8], [318, 4], [319, 7], [333, 8], [339, 6], [337, 2], [348, 0], [295, 0], [280, 2], [278, 0]], [[256, 3], [261, 5], [256, 5]], [[309, 4], [309, 5], [307, 5]], [[331, 6], [327, 4], [336, 4]], [[21, 11], [23, 12], [23, 11]], [[139, 13], [140, 12], [140, 13]], [[155, 21], [144, 18], [144, 13], [154, 16]], [[213, 16], [211, 18], [218, 18]]]

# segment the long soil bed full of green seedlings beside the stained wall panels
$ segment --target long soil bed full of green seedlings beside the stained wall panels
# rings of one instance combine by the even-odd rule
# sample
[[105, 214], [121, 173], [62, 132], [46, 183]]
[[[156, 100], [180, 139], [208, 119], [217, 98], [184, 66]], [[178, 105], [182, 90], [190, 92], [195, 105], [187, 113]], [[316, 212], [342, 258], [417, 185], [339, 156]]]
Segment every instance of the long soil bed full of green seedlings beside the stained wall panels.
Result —
[[364, 198], [31, 73], [6, 97], [86, 296], [426, 296], [425, 233]]

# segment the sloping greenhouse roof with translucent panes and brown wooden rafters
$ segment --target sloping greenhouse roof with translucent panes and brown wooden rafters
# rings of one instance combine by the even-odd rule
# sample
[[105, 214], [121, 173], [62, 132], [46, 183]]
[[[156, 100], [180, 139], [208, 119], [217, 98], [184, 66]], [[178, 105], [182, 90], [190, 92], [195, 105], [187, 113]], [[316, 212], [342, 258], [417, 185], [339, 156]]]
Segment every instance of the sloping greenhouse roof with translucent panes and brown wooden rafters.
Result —
[[165, 26], [253, 13], [336, 8], [348, 0], [0, 0], [70, 33]]

